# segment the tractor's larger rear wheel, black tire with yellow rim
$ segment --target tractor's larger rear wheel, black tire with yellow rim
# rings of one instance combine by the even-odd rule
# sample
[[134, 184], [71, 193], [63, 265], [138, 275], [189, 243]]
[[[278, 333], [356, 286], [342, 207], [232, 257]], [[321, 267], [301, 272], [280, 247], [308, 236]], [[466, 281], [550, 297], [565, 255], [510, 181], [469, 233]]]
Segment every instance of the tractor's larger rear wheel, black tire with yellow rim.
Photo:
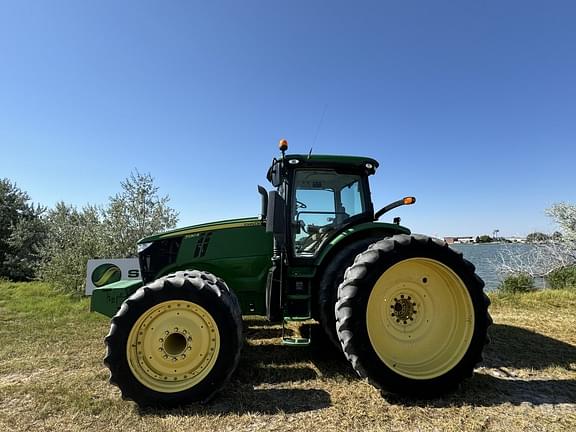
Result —
[[371, 245], [338, 289], [346, 358], [385, 392], [454, 389], [482, 360], [490, 301], [474, 266], [445, 242], [396, 235]]

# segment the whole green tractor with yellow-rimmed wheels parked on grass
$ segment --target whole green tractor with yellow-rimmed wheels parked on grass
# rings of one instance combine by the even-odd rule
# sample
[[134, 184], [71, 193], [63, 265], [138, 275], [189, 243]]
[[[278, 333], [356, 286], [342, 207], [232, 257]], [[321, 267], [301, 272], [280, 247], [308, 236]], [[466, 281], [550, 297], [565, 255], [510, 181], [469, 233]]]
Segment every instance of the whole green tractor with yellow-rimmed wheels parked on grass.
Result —
[[[238, 365], [242, 316], [283, 328], [319, 322], [383, 392], [430, 397], [482, 359], [489, 300], [474, 266], [440, 240], [377, 220], [367, 157], [274, 159], [260, 217], [195, 225], [138, 242], [142, 280], [94, 290], [112, 318], [110, 382], [141, 406], [205, 401]], [[310, 343], [283, 332], [285, 345]]]

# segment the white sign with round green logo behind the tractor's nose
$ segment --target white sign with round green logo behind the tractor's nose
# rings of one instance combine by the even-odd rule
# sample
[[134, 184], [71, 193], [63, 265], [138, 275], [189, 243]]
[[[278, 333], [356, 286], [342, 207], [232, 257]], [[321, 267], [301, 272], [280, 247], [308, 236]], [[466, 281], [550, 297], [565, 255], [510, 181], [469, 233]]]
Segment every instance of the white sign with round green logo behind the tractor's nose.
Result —
[[119, 280], [140, 279], [138, 258], [88, 260], [86, 269], [86, 295], [92, 295], [95, 288]]

